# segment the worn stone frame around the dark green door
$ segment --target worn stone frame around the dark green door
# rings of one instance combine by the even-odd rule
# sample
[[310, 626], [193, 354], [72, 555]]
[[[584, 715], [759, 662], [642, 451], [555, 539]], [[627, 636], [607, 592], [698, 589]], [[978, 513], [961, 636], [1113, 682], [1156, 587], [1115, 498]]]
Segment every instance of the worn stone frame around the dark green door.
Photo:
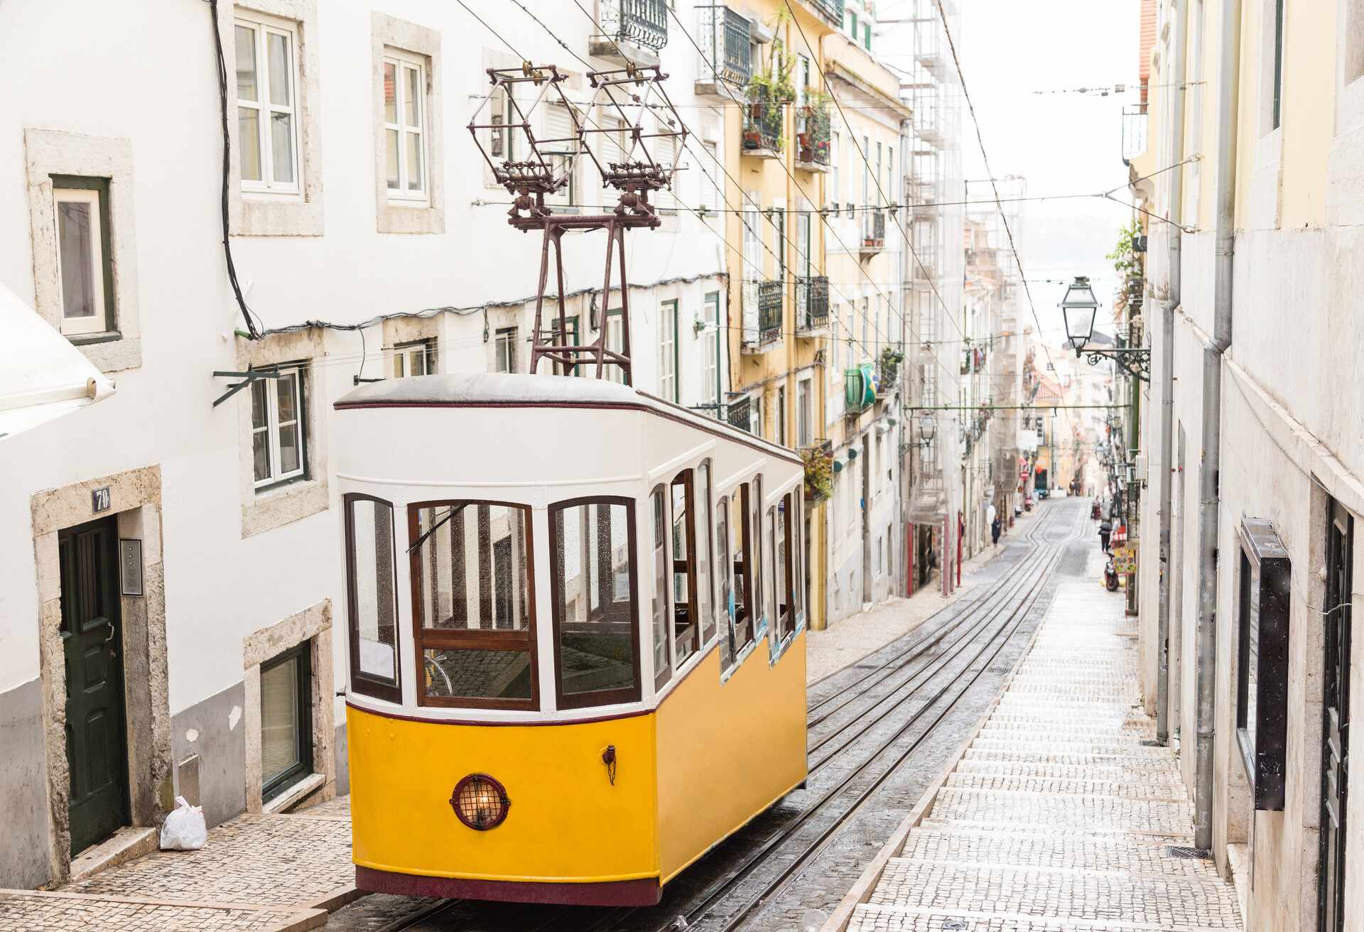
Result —
[[50, 880], [71, 876], [71, 764], [67, 760], [65, 655], [61, 648], [61, 562], [57, 532], [98, 514], [95, 489], [109, 489], [120, 538], [142, 540], [140, 596], [120, 596], [123, 607], [124, 729], [128, 742], [128, 802], [132, 826], [160, 824], [173, 805], [170, 696], [166, 674], [165, 576], [161, 546], [161, 467], [128, 469], [35, 493], [30, 499], [38, 583], [38, 660], [42, 677], [44, 744], [48, 783]]

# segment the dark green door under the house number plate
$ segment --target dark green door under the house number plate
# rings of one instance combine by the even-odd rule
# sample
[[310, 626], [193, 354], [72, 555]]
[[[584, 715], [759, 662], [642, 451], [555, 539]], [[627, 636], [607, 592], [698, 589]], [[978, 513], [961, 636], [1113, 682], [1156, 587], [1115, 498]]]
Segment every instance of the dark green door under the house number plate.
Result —
[[128, 824], [117, 525], [105, 519], [61, 531], [57, 550], [75, 854]]

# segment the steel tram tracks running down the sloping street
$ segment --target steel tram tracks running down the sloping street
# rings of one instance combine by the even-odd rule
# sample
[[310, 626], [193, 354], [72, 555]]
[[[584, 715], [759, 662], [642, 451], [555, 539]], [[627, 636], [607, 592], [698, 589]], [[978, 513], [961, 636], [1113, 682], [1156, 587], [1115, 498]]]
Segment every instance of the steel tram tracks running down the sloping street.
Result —
[[[851, 756], [855, 756], [857, 761], [842, 776], [835, 775], [832, 785], [822, 790], [806, 790], [817, 793], [816, 798], [757, 842], [757, 846], [737, 864], [726, 865], [724, 876], [689, 898], [683, 906], [686, 912], [681, 916], [668, 910], [670, 918], [662, 925], [655, 925], [660, 909], [667, 909], [666, 906], [615, 907], [600, 914], [584, 916], [582, 907], [507, 909], [510, 905], [501, 905], [502, 910], [491, 912], [502, 914], [494, 917], [490, 910], [483, 910], [471, 901], [450, 901], [430, 905], [383, 927], [379, 932], [416, 928], [441, 929], [441, 932], [491, 929], [540, 932], [550, 928], [580, 929], [580, 932], [739, 929], [810, 867], [902, 764], [936, 736], [943, 722], [956, 711], [963, 697], [990, 671], [994, 660], [1013, 641], [1045, 594], [1067, 544], [1075, 539], [1073, 527], [1057, 527], [1058, 521], [1054, 519], [1058, 512], [1060, 509], [1049, 508], [1039, 516], [1041, 520], [1023, 535], [1023, 540], [1033, 544], [1033, 550], [1000, 577], [990, 580], [988, 589], [970, 600], [959, 600], [934, 613], [919, 625], [915, 632], [922, 632], [919, 637], [914, 637], [910, 644], [900, 648], [892, 648], [891, 656], [877, 666], [809, 705], [809, 729], [814, 730], [831, 720], [835, 727], [807, 748], [807, 753], [812, 755], [807, 775], [820, 776], [829, 764]], [[1080, 509], [1075, 512], [1080, 519], [1087, 516], [1087, 512]], [[1075, 524], [1083, 525], [1083, 520]], [[1053, 532], [1057, 531], [1061, 539], [1054, 539]], [[923, 630], [929, 624], [934, 626]], [[973, 645], [975, 651], [967, 658]], [[880, 648], [884, 650], [887, 648]], [[921, 659], [925, 662], [917, 665]], [[844, 667], [812, 684], [812, 688], [835, 681], [847, 671], [848, 667]], [[918, 707], [908, 712], [904, 720], [887, 722], [898, 711], [908, 710], [911, 703], [918, 703]], [[872, 715], [878, 708], [880, 711]], [[921, 726], [930, 712], [934, 712], [932, 719]], [[836, 719], [844, 715], [848, 720], [839, 723]], [[878, 726], [893, 730], [889, 737], [877, 738], [874, 730]], [[858, 748], [868, 741], [873, 742], [872, 746]], [[816, 752], [832, 742], [837, 742], [832, 751], [817, 760], [813, 759]], [[892, 759], [885, 763], [888, 755]], [[877, 761], [885, 766], [878, 767]], [[839, 805], [850, 794], [853, 794], [851, 804]], [[812, 838], [798, 838], [802, 834]], [[764, 869], [772, 867], [776, 867], [775, 875], [764, 876]], [[750, 882], [757, 884], [756, 890], [749, 888]], [[724, 909], [726, 903], [732, 906]], [[472, 914], [466, 921], [461, 921], [457, 917], [460, 912]], [[685, 925], [678, 922], [679, 918], [685, 920]], [[454, 924], [447, 924], [449, 921]]]

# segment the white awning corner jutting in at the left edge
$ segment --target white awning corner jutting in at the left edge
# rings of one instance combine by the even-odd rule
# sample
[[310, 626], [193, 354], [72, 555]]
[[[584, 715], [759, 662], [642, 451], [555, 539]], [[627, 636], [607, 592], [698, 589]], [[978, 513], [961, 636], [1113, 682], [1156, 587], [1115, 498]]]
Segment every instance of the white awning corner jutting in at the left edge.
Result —
[[113, 394], [113, 382], [0, 285], [0, 441]]

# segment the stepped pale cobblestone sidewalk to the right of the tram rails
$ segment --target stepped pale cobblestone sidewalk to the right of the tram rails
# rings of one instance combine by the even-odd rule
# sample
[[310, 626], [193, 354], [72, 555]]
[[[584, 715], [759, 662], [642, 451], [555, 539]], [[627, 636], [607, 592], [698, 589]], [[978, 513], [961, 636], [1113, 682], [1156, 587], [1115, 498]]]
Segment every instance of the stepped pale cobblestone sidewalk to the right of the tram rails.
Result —
[[1143, 740], [1123, 596], [1063, 584], [998, 705], [850, 932], [1240, 929], [1192, 845], [1173, 752]]

